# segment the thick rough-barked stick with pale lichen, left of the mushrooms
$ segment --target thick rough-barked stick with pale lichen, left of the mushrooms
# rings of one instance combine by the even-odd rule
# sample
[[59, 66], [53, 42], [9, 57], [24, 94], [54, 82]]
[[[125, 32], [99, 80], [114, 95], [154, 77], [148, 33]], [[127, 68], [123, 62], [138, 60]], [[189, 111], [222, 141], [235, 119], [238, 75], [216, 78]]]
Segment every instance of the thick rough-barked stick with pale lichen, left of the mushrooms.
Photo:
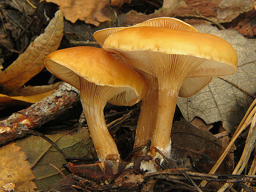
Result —
[[0, 121], [0, 145], [23, 137], [25, 135], [21, 133], [23, 130], [42, 126], [68, 109], [78, 106], [79, 101], [79, 91], [63, 83], [53, 94]]

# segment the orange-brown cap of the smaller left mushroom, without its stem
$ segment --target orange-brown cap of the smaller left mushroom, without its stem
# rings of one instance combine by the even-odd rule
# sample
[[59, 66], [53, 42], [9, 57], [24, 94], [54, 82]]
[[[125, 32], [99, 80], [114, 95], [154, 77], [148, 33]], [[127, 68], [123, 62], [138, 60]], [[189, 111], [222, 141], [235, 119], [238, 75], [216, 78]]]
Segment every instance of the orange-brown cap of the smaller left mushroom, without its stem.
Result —
[[134, 105], [146, 94], [146, 81], [124, 57], [102, 48], [74, 47], [57, 50], [45, 58], [46, 68], [80, 90], [79, 76], [99, 86], [127, 87], [111, 99], [114, 105]]

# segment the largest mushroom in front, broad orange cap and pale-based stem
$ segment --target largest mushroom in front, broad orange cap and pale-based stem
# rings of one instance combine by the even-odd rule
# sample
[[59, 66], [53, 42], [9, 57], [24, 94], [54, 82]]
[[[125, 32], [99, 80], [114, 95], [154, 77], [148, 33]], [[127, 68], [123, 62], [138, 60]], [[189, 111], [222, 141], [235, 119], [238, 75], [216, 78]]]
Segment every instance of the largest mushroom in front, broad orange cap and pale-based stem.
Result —
[[154, 147], [170, 157], [177, 97], [199, 92], [213, 76], [234, 74], [238, 65], [237, 54], [229, 43], [196, 31], [130, 27], [109, 35], [102, 47], [122, 54], [129, 64], [158, 79], [157, 117], [150, 148], [153, 157], [157, 157]]

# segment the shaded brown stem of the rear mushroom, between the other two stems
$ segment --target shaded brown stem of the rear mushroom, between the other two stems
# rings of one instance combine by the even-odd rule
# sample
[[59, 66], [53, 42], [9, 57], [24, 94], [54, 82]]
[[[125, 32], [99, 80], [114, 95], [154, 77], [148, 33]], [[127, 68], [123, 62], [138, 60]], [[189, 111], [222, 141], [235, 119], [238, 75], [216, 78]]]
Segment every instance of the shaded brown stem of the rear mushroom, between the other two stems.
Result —
[[[158, 106], [158, 83], [157, 78], [151, 74], [140, 71], [145, 77], [148, 89], [142, 99], [141, 112], [137, 123], [136, 135], [133, 148], [146, 145], [148, 140], [152, 140], [155, 128], [156, 110]], [[144, 154], [146, 155], [146, 154]]]

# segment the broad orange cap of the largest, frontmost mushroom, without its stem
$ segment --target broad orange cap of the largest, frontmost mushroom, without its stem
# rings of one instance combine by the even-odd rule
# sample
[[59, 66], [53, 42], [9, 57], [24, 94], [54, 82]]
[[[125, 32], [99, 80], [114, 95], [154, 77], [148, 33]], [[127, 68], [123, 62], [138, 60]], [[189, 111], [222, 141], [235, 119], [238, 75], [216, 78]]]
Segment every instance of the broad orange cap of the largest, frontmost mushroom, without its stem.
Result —
[[130, 27], [109, 35], [102, 47], [134, 58], [134, 61], [128, 59], [130, 65], [153, 75], [154, 70], [150, 61], [143, 56], [145, 54], [157, 52], [205, 59], [185, 79], [179, 92], [179, 96], [183, 97], [200, 91], [213, 76], [234, 74], [238, 65], [237, 54], [228, 42], [215, 35], [194, 31], [152, 26]]

